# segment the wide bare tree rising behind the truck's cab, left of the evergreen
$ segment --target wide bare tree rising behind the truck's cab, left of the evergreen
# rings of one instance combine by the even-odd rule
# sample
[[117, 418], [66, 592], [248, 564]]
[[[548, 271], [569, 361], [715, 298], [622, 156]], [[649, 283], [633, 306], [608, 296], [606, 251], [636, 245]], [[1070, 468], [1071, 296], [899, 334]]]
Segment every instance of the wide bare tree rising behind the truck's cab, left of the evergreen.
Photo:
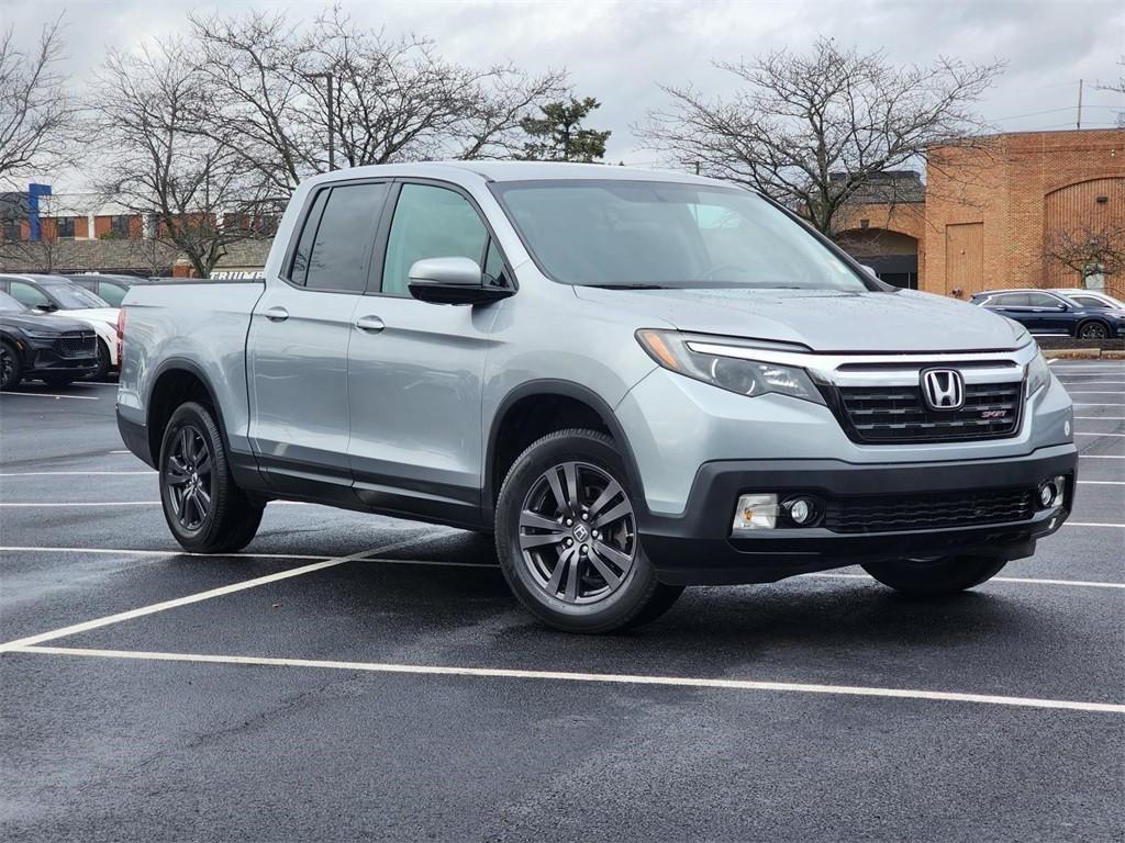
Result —
[[339, 8], [308, 29], [260, 12], [191, 24], [214, 103], [200, 129], [278, 198], [330, 167], [330, 138], [348, 166], [510, 156], [520, 121], [566, 88], [561, 72], [450, 63], [429, 40], [387, 38]]

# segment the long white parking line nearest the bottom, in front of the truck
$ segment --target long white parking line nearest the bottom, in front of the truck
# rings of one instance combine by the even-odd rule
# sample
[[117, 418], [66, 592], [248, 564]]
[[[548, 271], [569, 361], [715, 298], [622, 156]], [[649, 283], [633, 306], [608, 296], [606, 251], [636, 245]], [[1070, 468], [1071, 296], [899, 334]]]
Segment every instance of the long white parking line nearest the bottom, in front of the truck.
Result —
[[1071, 699], [1040, 699], [1035, 697], [1005, 697], [991, 694], [961, 691], [929, 691], [912, 688], [876, 688], [847, 685], [808, 685], [803, 682], [770, 682], [749, 679], [708, 679], [702, 677], [642, 676], [633, 673], [577, 673], [556, 670], [516, 670], [510, 668], [469, 668], [439, 664], [393, 664], [386, 662], [344, 662], [320, 659], [274, 659], [255, 655], [209, 655], [204, 653], [163, 653], [129, 650], [84, 650], [81, 647], [53, 647], [20, 645], [9, 652], [36, 655], [64, 655], [88, 659], [127, 659], [134, 661], [195, 662], [204, 664], [234, 664], [262, 668], [313, 668], [346, 670], [363, 673], [399, 673], [412, 676], [471, 677], [476, 679], [530, 679], [550, 682], [604, 682], [608, 685], [666, 686], [713, 690], [777, 691], [788, 694], [819, 694], [843, 697], [883, 697], [942, 703], [972, 703], [1018, 708], [1061, 709], [1099, 714], [1125, 714], [1125, 705], [1116, 703], [1086, 703]]

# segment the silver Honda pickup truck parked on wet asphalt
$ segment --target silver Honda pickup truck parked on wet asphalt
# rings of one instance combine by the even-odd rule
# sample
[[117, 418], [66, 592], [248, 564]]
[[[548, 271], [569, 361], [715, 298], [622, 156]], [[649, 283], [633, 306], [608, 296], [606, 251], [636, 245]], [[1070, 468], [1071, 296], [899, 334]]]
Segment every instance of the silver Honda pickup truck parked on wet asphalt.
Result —
[[860, 564], [948, 595], [1074, 496], [1023, 327], [889, 288], [770, 200], [615, 166], [309, 179], [264, 282], [134, 287], [118, 425], [187, 550], [272, 499], [494, 533], [544, 622]]

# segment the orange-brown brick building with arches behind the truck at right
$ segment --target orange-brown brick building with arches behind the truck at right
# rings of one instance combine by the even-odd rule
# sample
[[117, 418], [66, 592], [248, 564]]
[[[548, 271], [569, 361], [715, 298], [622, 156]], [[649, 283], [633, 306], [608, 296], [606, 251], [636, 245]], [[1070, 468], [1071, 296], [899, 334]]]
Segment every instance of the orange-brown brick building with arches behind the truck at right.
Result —
[[1122, 242], [1125, 129], [993, 135], [930, 149], [925, 197], [901, 196], [910, 193], [896, 190], [893, 201], [881, 201], [878, 191], [861, 196], [840, 226], [842, 245], [876, 270], [917, 255], [917, 284], [893, 272], [889, 281], [958, 298], [1104, 283], [1125, 298], [1122, 272], [1088, 264], [1083, 273], [1046, 254], [1059, 239], [1082, 234], [1116, 232]]

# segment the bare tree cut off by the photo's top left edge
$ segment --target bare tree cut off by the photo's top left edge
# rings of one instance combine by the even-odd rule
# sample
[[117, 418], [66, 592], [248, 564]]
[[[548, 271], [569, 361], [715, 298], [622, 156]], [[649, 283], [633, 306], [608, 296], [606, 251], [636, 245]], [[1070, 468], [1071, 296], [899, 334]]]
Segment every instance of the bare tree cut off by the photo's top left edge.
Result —
[[38, 43], [20, 49], [12, 27], [0, 36], [0, 180], [64, 163], [78, 108], [62, 60], [62, 18], [43, 27]]

